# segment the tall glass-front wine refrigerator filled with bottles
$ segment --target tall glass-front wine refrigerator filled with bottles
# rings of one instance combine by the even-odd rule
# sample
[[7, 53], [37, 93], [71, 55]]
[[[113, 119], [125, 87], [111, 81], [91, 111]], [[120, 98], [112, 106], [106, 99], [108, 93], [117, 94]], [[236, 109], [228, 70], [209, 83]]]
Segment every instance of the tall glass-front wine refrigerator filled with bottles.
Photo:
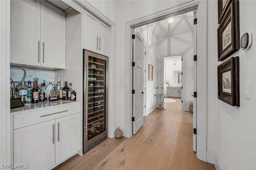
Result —
[[84, 153], [108, 137], [108, 57], [83, 51]]

